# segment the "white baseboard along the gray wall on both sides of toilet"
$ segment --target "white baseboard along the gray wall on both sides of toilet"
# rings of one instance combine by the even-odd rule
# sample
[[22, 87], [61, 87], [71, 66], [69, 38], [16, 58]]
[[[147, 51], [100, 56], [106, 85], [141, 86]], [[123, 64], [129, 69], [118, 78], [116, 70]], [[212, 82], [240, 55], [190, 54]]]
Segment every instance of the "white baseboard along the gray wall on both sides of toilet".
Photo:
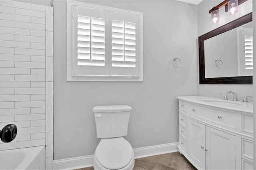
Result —
[[[146, 146], [142, 148], [135, 148], [135, 158], [143, 158], [147, 156], [154, 156], [159, 154], [166, 154], [178, 151], [178, 142], [159, 144], [154, 146]], [[74, 170], [79, 168], [86, 168], [92, 166], [94, 155], [80, 156], [76, 158], [67, 158], [53, 161], [54, 170]]]

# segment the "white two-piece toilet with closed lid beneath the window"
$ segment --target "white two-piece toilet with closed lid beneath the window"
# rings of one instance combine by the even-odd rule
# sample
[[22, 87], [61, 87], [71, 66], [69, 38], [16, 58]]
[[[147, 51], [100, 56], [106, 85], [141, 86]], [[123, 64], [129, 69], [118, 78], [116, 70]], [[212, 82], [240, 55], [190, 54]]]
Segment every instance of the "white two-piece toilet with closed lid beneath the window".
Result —
[[93, 109], [98, 144], [93, 159], [95, 170], [132, 170], [134, 152], [122, 136], [127, 135], [130, 106], [95, 106]]

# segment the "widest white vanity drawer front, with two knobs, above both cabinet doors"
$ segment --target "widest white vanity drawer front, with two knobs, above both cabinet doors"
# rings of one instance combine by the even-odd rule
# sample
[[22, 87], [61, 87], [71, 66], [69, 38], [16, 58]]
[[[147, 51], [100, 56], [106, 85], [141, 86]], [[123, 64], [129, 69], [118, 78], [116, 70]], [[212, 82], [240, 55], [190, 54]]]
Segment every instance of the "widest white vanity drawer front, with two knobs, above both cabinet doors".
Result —
[[235, 113], [225, 112], [218, 109], [208, 109], [192, 104], [188, 105], [188, 113], [224, 127], [236, 128]]

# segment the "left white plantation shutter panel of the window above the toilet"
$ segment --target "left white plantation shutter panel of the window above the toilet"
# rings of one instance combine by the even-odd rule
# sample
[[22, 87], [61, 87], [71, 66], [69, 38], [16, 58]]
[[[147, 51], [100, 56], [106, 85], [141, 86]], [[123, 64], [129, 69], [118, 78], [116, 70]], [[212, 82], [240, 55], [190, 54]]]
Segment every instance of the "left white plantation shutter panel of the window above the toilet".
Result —
[[74, 75], [108, 75], [104, 10], [74, 6]]

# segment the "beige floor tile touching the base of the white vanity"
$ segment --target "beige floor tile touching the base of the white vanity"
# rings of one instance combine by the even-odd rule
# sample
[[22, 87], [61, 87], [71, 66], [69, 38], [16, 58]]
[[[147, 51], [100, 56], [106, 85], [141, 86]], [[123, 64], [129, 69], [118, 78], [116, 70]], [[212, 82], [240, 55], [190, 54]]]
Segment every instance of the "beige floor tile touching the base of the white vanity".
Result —
[[176, 170], [196, 170], [196, 168], [179, 152], [174, 152], [169, 167]]

